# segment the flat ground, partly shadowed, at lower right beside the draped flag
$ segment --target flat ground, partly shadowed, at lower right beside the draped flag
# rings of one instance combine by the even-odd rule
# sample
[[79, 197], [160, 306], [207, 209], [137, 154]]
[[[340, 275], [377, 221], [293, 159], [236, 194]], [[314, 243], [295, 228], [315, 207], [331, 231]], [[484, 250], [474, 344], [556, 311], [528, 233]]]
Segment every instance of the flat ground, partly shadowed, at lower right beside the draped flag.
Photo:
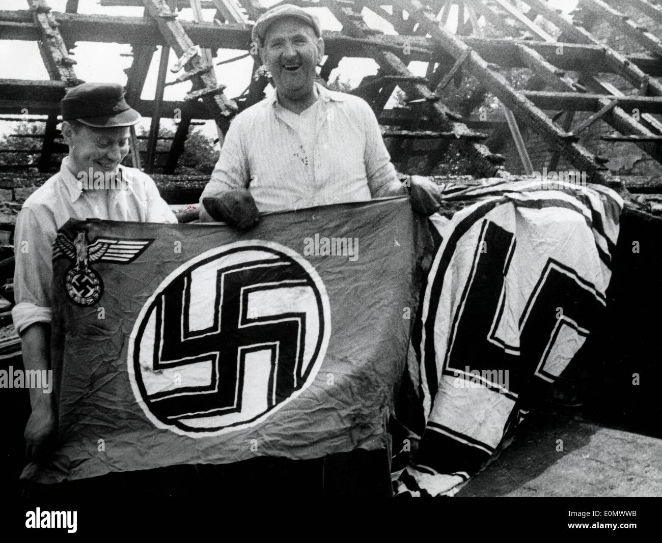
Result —
[[662, 439], [535, 413], [512, 444], [457, 493], [479, 496], [662, 496]]

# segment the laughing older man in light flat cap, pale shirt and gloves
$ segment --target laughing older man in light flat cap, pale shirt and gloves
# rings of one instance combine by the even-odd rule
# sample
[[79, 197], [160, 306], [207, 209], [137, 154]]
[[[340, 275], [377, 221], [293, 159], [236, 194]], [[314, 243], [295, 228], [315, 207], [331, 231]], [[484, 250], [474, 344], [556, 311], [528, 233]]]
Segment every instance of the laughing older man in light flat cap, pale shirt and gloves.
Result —
[[321, 35], [318, 19], [293, 5], [275, 7], [256, 22], [252, 39], [276, 90], [232, 122], [203, 192], [201, 220], [250, 228], [258, 210], [398, 196], [409, 186], [418, 212], [438, 208], [430, 180], [399, 181], [369, 105], [315, 82]]

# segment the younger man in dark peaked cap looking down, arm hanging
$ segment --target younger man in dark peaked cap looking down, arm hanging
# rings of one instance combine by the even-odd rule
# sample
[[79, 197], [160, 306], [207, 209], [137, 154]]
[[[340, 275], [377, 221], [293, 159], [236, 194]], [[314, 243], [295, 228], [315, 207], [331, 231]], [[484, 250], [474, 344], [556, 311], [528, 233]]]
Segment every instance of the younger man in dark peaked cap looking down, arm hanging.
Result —
[[[62, 99], [62, 120], [69, 155], [60, 172], [25, 201], [16, 222], [12, 317], [26, 370], [50, 365], [52, 243], [64, 223], [70, 218], [177, 222], [148, 175], [120, 166], [129, 150], [129, 127], [140, 120], [124, 101], [121, 85], [74, 87]], [[57, 430], [52, 395], [32, 388], [30, 404], [26, 454], [39, 458]]]

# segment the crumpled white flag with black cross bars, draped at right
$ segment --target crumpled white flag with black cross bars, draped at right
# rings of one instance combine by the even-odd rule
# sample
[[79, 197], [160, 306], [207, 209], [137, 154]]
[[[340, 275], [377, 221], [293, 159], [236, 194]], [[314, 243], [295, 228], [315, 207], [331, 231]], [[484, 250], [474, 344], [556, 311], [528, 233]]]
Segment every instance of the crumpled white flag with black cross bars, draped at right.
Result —
[[408, 364], [424, 430], [397, 493], [453, 495], [477, 474], [604, 310], [623, 201], [556, 185], [465, 188], [465, 207], [432, 221], [438, 248]]

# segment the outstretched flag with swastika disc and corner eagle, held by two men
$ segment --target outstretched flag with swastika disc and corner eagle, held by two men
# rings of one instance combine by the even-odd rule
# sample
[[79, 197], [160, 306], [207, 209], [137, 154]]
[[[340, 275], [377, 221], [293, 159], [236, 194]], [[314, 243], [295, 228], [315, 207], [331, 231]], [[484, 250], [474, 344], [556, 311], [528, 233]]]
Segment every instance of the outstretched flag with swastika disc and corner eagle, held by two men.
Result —
[[425, 233], [408, 198], [246, 233], [71, 220], [53, 261], [59, 444], [23, 477], [389, 448]]

